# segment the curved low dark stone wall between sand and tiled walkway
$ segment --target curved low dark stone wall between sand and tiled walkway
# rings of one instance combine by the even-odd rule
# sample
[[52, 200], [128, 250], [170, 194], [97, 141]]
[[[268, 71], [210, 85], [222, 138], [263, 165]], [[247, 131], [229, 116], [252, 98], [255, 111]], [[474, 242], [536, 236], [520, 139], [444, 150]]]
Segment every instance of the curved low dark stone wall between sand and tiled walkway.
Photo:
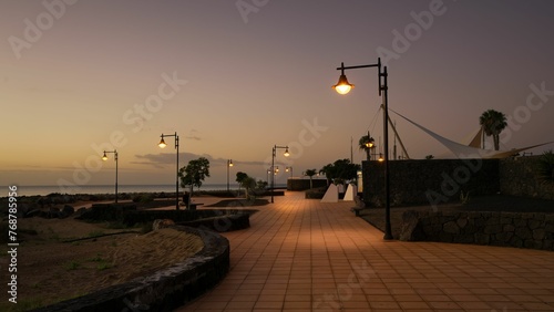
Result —
[[229, 241], [213, 231], [183, 226], [175, 228], [202, 237], [204, 249], [152, 275], [34, 311], [173, 311], [189, 302], [227, 274]]

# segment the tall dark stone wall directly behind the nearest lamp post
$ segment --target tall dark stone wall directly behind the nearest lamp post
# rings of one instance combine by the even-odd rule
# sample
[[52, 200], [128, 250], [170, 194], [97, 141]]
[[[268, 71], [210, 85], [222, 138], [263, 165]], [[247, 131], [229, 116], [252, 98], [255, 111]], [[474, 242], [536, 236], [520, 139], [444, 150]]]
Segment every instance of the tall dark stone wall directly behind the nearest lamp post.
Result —
[[[384, 163], [362, 162], [363, 201], [384, 205]], [[391, 206], [439, 205], [500, 190], [499, 159], [390, 160]]]

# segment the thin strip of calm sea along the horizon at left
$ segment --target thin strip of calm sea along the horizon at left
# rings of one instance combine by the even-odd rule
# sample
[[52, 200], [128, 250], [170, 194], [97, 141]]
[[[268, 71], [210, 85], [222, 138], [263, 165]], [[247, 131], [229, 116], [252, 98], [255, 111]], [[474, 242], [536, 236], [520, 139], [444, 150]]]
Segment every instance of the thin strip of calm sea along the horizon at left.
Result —
[[[61, 194], [114, 194], [115, 193], [115, 186], [114, 185], [83, 185], [79, 186], [78, 189], [73, 190], [72, 193], [68, 193], [62, 190], [59, 186], [57, 185], [33, 185], [33, 186], [27, 186], [27, 185], [17, 185], [17, 194], [18, 196], [35, 196], [35, 195], [41, 195], [45, 196], [49, 194], [53, 193], [61, 193]], [[276, 188], [283, 188], [287, 187], [286, 185], [280, 185], [276, 184]], [[2, 186], [2, 189], [4, 194], [0, 193], [0, 197], [8, 196], [8, 193], [10, 189], [8, 186]], [[194, 188], [195, 191], [198, 190], [198, 188]], [[227, 189], [227, 184], [206, 184], [203, 185], [199, 190], [226, 190]], [[230, 184], [229, 185], [230, 190], [238, 190], [238, 185]], [[175, 193], [175, 185], [117, 185], [117, 193]], [[179, 191], [183, 191], [183, 188], [179, 187]]]

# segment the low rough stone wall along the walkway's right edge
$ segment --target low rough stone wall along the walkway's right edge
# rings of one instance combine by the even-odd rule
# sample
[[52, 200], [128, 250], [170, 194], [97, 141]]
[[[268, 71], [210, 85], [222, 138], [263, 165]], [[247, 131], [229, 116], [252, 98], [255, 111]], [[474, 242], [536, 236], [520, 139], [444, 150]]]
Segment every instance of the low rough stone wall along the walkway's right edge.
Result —
[[554, 214], [406, 211], [400, 240], [554, 250]]

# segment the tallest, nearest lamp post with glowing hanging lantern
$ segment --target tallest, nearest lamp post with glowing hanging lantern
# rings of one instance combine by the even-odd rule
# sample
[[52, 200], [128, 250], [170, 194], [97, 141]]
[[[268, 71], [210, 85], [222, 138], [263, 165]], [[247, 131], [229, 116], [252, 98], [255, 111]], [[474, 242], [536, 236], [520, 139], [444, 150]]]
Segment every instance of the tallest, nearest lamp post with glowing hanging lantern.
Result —
[[[382, 96], [383, 101], [383, 135], [384, 135], [384, 237], [383, 239], [392, 239], [392, 230], [390, 226], [390, 188], [389, 188], [389, 85], [387, 82], [387, 66], [381, 67], [381, 58], [377, 59], [377, 64], [368, 65], [357, 65], [357, 66], [345, 66], [345, 63], [340, 63], [339, 82], [332, 87], [339, 94], [347, 94], [352, 90], [353, 84], [350, 84], [345, 75], [345, 70], [356, 70], [356, 69], [367, 69], [377, 67], [378, 69], [378, 80], [379, 80], [379, 96]], [[382, 70], [382, 71], [381, 71]]]

